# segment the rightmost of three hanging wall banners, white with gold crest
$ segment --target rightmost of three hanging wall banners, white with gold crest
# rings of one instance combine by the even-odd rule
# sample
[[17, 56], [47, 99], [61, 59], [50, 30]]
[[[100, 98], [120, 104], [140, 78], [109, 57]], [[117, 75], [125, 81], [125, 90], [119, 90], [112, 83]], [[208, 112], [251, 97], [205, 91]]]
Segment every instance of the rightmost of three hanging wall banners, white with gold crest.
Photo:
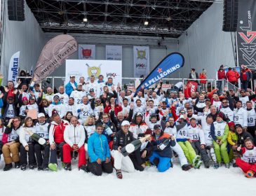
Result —
[[133, 46], [134, 77], [149, 74], [149, 46]]

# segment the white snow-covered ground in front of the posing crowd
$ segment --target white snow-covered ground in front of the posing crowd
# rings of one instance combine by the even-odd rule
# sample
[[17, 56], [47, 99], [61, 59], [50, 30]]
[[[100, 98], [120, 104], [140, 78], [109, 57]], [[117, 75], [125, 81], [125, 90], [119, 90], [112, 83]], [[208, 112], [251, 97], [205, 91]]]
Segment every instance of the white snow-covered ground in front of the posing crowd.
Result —
[[[159, 173], [155, 167], [144, 172], [128, 174], [117, 179], [115, 172], [94, 176], [77, 169], [72, 164], [72, 172], [60, 169], [58, 172], [38, 172], [37, 169], [11, 169], [3, 172], [4, 162], [0, 162], [1, 195], [34, 196], [85, 196], [85, 195], [244, 195], [254, 194], [256, 178], [247, 179], [239, 168], [191, 169], [183, 172], [176, 162], [167, 172]], [[36, 191], [41, 192], [36, 193]]]

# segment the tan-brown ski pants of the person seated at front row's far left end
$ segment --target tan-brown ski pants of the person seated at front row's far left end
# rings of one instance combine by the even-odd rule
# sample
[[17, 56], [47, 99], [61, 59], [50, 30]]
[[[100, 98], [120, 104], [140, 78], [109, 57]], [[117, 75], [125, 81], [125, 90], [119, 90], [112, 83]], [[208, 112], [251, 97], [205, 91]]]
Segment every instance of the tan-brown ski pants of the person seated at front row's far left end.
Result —
[[19, 148], [20, 142], [16, 142], [14, 144], [11, 144], [10, 146], [4, 144], [2, 151], [4, 156], [4, 162], [6, 164], [20, 161]]

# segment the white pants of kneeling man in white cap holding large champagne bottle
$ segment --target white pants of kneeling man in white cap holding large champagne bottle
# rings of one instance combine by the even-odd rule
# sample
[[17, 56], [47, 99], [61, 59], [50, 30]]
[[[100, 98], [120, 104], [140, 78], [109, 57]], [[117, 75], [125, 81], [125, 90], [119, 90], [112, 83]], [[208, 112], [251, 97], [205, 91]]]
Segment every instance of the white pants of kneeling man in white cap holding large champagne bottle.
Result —
[[112, 150], [111, 155], [114, 158], [114, 168], [121, 169], [125, 172], [135, 172], [132, 160], [129, 156], [124, 157], [122, 153], [117, 150]]

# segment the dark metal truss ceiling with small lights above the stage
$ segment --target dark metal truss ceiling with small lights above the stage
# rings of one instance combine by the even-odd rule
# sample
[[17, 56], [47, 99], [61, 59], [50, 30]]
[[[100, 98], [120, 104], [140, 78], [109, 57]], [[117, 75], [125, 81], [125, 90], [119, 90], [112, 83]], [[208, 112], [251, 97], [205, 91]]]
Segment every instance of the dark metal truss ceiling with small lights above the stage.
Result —
[[222, 1], [27, 0], [27, 4], [46, 32], [177, 38], [213, 2]]

